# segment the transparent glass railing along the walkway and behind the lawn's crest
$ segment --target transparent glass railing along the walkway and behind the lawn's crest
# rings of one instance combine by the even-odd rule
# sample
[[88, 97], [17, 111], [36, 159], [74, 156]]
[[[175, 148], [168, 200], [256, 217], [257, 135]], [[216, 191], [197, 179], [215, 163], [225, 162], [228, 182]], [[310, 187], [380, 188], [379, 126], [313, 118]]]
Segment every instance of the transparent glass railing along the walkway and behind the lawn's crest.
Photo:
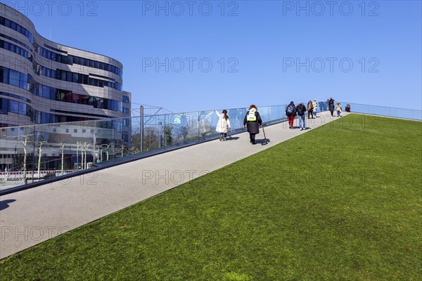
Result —
[[[325, 105], [319, 103], [319, 112], [328, 108]], [[421, 110], [355, 103], [350, 107], [352, 112], [421, 120]], [[244, 131], [248, 109], [227, 111], [229, 134]], [[286, 121], [286, 105], [260, 106], [258, 111], [264, 124]], [[144, 115], [143, 122], [137, 116], [0, 128], [0, 190], [210, 141], [219, 136], [217, 122], [217, 113], [205, 110]]]

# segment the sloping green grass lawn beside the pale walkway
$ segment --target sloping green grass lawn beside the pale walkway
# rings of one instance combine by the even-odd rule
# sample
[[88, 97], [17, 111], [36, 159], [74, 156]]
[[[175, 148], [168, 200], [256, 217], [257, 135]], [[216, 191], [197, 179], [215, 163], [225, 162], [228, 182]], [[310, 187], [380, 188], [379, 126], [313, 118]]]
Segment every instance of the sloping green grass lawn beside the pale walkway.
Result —
[[422, 123], [349, 115], [0, 261], [0, 280], [422, 280]]

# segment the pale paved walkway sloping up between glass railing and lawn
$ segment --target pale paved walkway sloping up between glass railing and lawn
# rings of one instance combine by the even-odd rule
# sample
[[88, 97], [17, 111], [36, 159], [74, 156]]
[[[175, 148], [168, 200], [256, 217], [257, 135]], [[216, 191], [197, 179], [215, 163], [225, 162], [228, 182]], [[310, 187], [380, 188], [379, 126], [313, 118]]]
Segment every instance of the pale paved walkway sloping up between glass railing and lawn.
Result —
[[[311, 129], [268, 126], [267, 145], [251, 145], [248, 133], [140, 159], [92, 174], [0, 197], [0, 259], [136, 202], [215, 171], [254, 153], [338, 119], [329, 112], [306, 119]], [[298, 120], [295, 120], [298, 125]], [[263, 139], [262, 129], [257, 140]], [[222, 157], [221, 155], [224, 155]]]

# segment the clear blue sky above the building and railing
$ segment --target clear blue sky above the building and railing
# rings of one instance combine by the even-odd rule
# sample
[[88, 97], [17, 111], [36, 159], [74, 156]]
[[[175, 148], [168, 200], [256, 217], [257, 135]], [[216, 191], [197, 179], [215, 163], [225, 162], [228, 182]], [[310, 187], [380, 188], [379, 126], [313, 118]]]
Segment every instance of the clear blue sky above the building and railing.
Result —
[[333, 96], [421, 110], [421, 1], [2, 2], [43, 37], [119, 60], [134, 103], [187, 112]]

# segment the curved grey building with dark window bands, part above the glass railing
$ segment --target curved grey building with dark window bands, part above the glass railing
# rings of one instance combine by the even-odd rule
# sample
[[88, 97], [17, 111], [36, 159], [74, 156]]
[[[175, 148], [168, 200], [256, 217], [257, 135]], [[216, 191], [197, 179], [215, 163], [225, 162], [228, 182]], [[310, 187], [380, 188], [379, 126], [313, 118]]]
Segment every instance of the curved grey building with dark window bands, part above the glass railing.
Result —
[[0, 4], [0, 127], [130, 117], [119, 61], [41, 37]]

